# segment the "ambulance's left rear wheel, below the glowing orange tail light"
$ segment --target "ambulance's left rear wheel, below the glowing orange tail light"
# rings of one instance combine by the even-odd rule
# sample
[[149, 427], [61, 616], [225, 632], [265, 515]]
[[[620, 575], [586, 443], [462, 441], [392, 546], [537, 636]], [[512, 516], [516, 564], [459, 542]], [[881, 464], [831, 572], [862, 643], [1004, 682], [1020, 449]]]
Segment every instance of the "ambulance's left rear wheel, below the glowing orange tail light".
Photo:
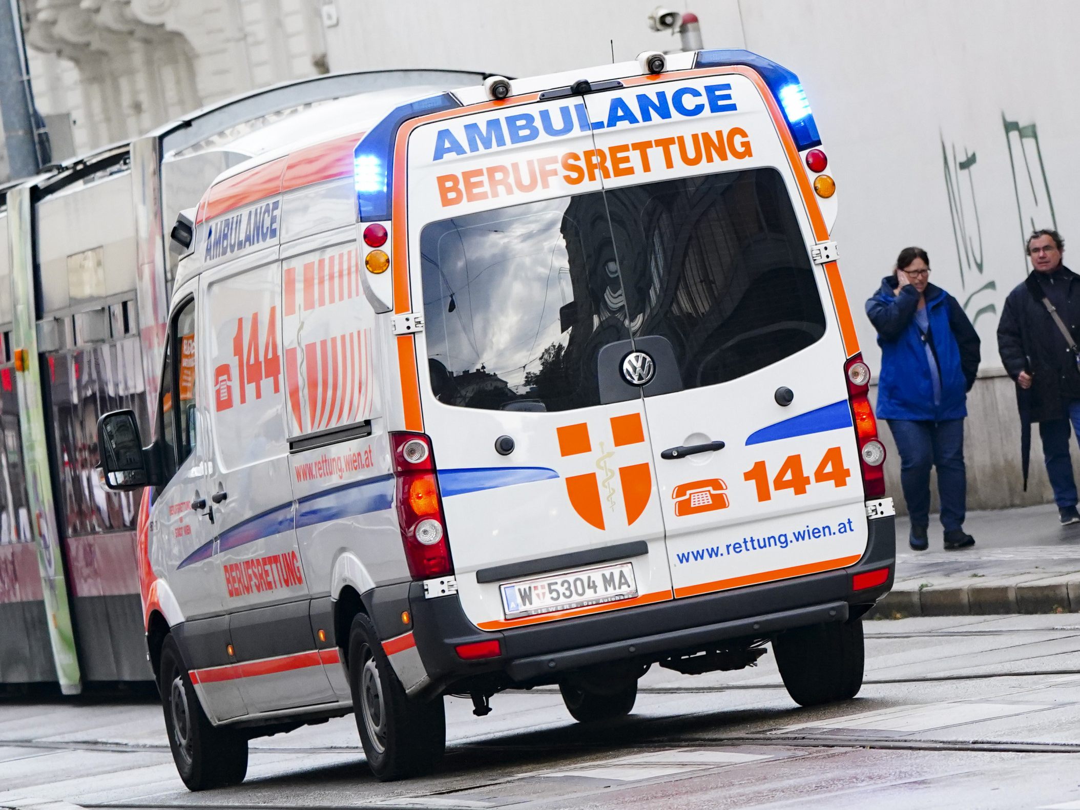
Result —
[[364, 613], [352, 620], [349, 633], [349, 686], [360, 741], [376, 779], [391, 782], [434, 770], [446, 750], [443, 698], [420, 702], [405, 693]]

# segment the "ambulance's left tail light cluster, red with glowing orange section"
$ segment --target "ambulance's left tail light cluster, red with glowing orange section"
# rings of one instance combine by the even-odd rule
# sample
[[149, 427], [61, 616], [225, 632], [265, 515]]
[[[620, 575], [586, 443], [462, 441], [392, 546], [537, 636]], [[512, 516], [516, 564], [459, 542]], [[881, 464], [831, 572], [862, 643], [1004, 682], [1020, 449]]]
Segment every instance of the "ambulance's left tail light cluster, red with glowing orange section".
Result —
[[397, 482], [394, 505], [409, 573], [413, 579], [454, 573], [431, 440], [423, 433], [391, 433], [390, 445]]

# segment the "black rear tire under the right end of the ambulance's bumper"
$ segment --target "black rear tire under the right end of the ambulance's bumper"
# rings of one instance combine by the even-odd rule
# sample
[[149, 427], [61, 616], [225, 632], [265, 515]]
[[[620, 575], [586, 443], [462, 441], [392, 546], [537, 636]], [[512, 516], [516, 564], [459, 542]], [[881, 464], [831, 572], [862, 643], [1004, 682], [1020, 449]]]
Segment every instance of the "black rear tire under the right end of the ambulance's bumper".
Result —
[[859, 694], [863, 686], [863, 622], [828, 622], [781, 633], [772, 642], [792, 700], [815, 706]]

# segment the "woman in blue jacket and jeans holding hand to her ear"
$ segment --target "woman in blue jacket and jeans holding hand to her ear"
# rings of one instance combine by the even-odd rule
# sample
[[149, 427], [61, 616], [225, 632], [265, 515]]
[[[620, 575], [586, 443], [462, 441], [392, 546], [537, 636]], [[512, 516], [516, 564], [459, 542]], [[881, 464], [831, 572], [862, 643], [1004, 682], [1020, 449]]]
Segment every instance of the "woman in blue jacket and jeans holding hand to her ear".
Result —
[[963, 530], [963, 418], [978, 370], [975, 327], [956, 298], [930, 283], [930, 257], [921, 247], [900, 252], [892, 275], [866, 301], [866, 314], [881, 347], [877, 415], [900, 449], [908, 542], [916, 551], [929, 545], [930, 468], [936, 467], [945, 549], [974, 545]]

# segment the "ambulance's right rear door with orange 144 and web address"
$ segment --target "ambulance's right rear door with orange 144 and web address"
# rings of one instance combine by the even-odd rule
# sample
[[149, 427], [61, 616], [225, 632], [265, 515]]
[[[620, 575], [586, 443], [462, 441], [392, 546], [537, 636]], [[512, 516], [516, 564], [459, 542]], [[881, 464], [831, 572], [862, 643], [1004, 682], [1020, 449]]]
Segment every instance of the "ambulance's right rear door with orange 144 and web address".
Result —
[[739, 70], [588, 97], [676, 598], [852, 565], [867, 540], [816, 202]]

